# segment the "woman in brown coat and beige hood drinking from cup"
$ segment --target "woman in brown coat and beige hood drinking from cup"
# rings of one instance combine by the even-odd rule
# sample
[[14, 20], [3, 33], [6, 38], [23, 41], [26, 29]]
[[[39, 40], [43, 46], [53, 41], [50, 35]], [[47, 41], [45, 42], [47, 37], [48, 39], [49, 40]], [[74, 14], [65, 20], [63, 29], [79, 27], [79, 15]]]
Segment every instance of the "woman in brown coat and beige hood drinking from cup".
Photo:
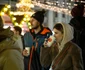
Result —
[[73, 28], [69, 24], [57, 23], [54, 28], [55, 43], [47, 46], [47, 41], [41, 47], [41, 65], [50, 70], [84, 70], [81, 49], [71, 42]]

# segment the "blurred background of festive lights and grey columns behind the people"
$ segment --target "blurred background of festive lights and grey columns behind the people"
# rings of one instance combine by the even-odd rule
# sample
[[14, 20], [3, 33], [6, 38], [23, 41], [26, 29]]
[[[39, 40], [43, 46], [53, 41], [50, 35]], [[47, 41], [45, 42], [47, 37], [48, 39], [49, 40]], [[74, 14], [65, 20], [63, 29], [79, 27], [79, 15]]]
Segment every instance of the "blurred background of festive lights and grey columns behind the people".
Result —
[[69, 23], [71, 9], [80, 3], [85, 5], [85, 0], [0, 0], [0, 15], [4, 28], [20, 26], [24, 34], [31, 29], [30, 16], [35, 11], [45, 9], [43, 25], [52, 30], [56, 22]]

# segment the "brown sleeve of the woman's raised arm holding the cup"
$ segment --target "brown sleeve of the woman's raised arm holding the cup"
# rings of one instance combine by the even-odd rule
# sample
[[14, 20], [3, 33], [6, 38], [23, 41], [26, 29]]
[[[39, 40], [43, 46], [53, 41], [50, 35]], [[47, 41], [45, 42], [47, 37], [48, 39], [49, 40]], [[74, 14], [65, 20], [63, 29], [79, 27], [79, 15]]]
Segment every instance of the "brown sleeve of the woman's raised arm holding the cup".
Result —
[[40, 62], [43, 67], [48, 67], [52, 64], [52, 60], [56, 57], [58, 51], [56, 46], [41, 47], [40, 50]]

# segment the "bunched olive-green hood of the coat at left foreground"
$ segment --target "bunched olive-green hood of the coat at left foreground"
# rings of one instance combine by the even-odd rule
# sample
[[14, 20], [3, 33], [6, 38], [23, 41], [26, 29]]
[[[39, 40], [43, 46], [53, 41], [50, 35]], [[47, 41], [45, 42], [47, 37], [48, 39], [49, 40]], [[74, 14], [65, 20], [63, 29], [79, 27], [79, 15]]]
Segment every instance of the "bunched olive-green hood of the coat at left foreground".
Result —
[[6, 49], [20, 50], [19, 45], [16, 43], [16, 40], [17, 39], [15, 39], [14, 33], [10, 30], [10, 28], [2, 28], [0, 30], [0, 52]]

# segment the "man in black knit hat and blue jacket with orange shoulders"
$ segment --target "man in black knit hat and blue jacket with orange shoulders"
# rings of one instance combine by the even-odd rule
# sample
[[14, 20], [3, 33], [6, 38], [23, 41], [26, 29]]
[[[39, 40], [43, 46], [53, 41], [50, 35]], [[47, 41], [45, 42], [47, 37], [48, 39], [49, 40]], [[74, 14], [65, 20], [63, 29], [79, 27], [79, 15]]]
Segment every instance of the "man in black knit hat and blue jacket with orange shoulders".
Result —
[[[31, 48], [30, 56], [25, 57], [25, 70], [44, 70], [45, 68], [41, 67], [39, 55], [40, 47], [43, 45], [44, 40], [48, 38], [52, 32], [48, 27], [43, 27], [42, 23], [44, 21], [45, 11], [37, 11], [31, 16], [30, 23], [32, 29], [30, 32], [24, 35], [25, 46]], [[29, 36], [29, 37], [28, 37]], [[33, 46], [35, 51], [33, 51]], [[37, 55], [38, 57], [36, 57]], [[23, 51], [23, 55], [27, 54], [26, 50]], [[26, 59], [27, 58], [27, 59]], [[45, 69], [49, 70], [49, 69]]]

